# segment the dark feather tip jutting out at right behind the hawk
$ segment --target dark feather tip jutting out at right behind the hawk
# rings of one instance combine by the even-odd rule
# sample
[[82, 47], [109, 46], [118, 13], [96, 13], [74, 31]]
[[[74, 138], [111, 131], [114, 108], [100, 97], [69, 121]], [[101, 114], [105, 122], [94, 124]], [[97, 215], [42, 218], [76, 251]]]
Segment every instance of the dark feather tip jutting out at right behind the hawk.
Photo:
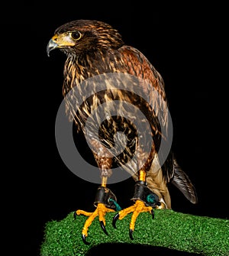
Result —
[[188, 175], [179, 167], [176, 159], [173, 159], [174, 174], [171, 183], [176, 186], [191, 203], [197, 203], [195, 187]]

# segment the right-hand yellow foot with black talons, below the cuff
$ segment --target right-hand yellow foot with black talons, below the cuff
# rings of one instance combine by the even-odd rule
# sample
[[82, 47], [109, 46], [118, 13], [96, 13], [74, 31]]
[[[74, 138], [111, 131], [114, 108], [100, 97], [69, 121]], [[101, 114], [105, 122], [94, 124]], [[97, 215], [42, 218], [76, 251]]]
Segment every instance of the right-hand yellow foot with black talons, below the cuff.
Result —
[[133, 240], [133, 232], [134, 232], [134, 225], [135, 225], [135, 222], [136, 222], [136, 219], [137, 219], [137, 216], [140, 214], [140, 212], [150, 212], [154, 218], [154, 212], [153, 212], [153, 207], [151, 206], [146, 206], [144, 204], [144, 202], [140, 201], [140, 200], [136, 200], [136, 202], [134, 203], [134, 206], [130, 206], [126, 209], [123, 209], [121, 210], [120, 212], [118, 212], [116, 215], [114, 215], [114, 218], [113, 218], [113, 226], [114, 228], [116, 228], [116, 222], [118, 219], [123, 219], [124, 216], [126, 216], [127, 214], [133, 212], [133, 215], [131, 217], [131, 223], [130, 223], [130, 232], [129, 232], [129, 235], [130, 235], [130, 238], [131, 240]]

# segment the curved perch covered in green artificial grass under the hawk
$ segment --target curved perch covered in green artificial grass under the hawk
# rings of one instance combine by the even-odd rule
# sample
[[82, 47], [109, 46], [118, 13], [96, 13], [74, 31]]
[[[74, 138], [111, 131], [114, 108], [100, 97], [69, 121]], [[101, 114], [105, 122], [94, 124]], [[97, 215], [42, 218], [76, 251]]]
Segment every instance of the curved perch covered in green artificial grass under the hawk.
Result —
[[[65, 219], [47, 222], [41, 256], [82, 256], [101, 244], [135, 244], [170, 248], [206, 256], [229, 255], [229, 220], [189, 215], [173, 210], [155, 210], [155, 219], [147, 212], [140, 213], [134, 229], [134, 240], [129, 238], [131, 215], [112, 226], [114, 213], [107, 213], [106, 229], [102, 232], [98, 219], [89, 227], [87, 241], [82, 242], [81, 231], [87, 217], [73, 219], [73, 212]], [[97, 217], [98, 218], [98, 217]], [[119, 254], [117, 252], [117, 254]], [[153, 255], [153, 248], [152, 248]]]

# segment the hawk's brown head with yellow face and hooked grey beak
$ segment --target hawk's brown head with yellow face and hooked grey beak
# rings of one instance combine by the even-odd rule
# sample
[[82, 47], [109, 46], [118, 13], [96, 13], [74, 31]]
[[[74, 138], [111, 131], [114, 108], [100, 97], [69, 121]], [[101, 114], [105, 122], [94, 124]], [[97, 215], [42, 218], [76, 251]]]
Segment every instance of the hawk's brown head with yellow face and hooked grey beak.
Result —
[[124, 44], [121, 35], [102, 21], [78, 20], [57, 28], [47, 45], [47, 54], [60, 48], [67, 54], [89, 53], [109, 48], [118, 49]]

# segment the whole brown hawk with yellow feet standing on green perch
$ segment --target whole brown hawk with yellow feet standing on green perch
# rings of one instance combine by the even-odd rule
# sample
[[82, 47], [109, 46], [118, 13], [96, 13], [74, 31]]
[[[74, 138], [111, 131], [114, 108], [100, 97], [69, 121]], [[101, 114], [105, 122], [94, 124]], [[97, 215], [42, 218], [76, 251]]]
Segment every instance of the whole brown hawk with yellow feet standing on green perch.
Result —
[[[101, 184], [95, 195], [95, 212], [80, 209], [75, 212], [75, 216], [89, 217], [82, 228], [85, 244], [89, 243], [86, 237], [95, 217], [98, 216], [102, 230], [108, 234], [105, 215], [115, 211], [114, 228], [118, 219], [132, 212], [129, 235], [133, 239], [140, 212], [154, 215], [153, 209], [171, 209], [169, 183], [179, 188], [191, 203], [197, 203], [195, 187], [177, 164], [173, 152], [169, 150], [163, 163], [160, 160], [161, 144], [167, 136], [168, 104], [163, 78], [147, 57], [140, 50], [124, 44], [121, 34], [103, 21], [76, 20], [61, 25], [47, 44], [48, 56], [54, 49], [66, 53], [63, 96], [66, 115], [76, 124], [77, 131], [86, 135], [85, 124], [92, 112], [99, 105], [107, 104], [90, 118], [87, 130], [87, 142], [94, 149], [92, 153], [98, 164]], [[97, 89], [99, 84], [103, 85], [102, 89]], [[73, 89], [76, 91], [69, 93]], [[84, 97], [90, 89], [95, 89], [95, 93]], [[76, 109], [78, 96], [84, 100]], [[116, 115], [113, 110], [117, 110]], [[139, 136], [137, 131], [139, 124], [143, 125], [141, 134], [147, 134], [142, 141], [140, 137], [144, 136]], [[98, 137], [91, 132], [96, 128]], [[111, 154], [108, 149], [115, 144], [123, 151]], [[119, 209], [116, 196], [108, 188], [108, 180], [116, 170], [114, 167], [123, 167], [122, 170], [131, 173], [135, 180], [133, 205], [126, 209]]]

